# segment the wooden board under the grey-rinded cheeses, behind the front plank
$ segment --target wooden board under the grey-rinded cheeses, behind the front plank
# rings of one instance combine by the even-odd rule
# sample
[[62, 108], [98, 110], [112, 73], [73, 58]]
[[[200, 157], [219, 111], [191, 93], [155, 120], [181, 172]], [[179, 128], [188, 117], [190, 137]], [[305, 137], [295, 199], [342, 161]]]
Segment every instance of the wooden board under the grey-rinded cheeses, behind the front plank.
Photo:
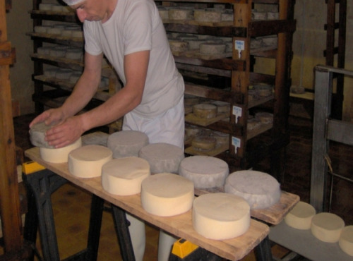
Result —
[[[209, 188], [207, 190], [196, 189], [195, 195], [217, 192], [225, 192], [225, 190], [224, 188]], [[262, 210], [251, 210], [251, 217], [265, 221], [268, 224], [280, 224], [286, 214], [292, 210], [299, 200], [299, 195], [282, 191], [280, 202]]]

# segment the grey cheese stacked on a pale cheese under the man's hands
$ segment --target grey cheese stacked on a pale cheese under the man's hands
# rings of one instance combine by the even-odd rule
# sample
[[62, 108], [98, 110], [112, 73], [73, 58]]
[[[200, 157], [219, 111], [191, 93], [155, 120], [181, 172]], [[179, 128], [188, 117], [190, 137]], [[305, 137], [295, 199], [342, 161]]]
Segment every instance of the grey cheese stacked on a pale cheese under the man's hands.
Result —
[[53, 126], [46, 125], [44, 122], [37, 123], [30, 128], [30, 141], [32, 145], [40, 147], [40, 157], [46, 162], [62, 163], [68, 161], [68, 153], [81, 147], [81, 138], [66, 147], [55, 148], [45, 140], [45, 133]]

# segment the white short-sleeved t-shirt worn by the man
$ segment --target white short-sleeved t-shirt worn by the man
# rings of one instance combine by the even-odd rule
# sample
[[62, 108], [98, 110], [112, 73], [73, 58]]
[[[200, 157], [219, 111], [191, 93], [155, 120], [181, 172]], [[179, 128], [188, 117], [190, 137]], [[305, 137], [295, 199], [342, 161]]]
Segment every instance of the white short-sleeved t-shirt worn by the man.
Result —
[[150, 50], [143, 99], [133, 111], [153, 118], [180, 101], [184, 80], [175, 66], [154, 1], [119, 0], [109, 20], [105, 23], [85, 20], [83, 28], [85, 51], [92, 55], [103, 52], [124, 85], [124, 56]]

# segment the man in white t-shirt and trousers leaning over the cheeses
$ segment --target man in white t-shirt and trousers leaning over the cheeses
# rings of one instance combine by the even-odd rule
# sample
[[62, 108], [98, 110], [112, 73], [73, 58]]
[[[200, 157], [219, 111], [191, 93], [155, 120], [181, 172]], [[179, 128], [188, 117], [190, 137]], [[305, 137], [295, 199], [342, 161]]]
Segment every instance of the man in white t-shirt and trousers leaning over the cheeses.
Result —
[[[64, 147], [86, 130], [124, 116], [123, 130], [140, 130], [150, 143], [184, 147], [184, 80], [177, 71], [162, 20], [152, 0], [64, 0], [76, 10], [85, 35], [85, 68], [72, 94], [30, 126], [57, 123], [46, 133], [49, 145]], [[124, 83], [107, 102], [76, 115], [90, 101], [105, 55]], [[128, 215], [136, 260], [145, 249], [144, 224]], [[160, 233], [158, 260], [167, 260], [174, 238]]]

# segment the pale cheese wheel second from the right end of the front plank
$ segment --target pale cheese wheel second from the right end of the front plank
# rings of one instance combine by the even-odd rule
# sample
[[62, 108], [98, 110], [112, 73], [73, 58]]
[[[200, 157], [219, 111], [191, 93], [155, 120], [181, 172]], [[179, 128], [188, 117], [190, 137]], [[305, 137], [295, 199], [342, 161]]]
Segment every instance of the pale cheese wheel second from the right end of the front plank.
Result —
[[177, 174], [155, 174], [145, 178], [141, 184], [143, 209], [160, 217], [191, 210], [193, 198], [193, 182]]

